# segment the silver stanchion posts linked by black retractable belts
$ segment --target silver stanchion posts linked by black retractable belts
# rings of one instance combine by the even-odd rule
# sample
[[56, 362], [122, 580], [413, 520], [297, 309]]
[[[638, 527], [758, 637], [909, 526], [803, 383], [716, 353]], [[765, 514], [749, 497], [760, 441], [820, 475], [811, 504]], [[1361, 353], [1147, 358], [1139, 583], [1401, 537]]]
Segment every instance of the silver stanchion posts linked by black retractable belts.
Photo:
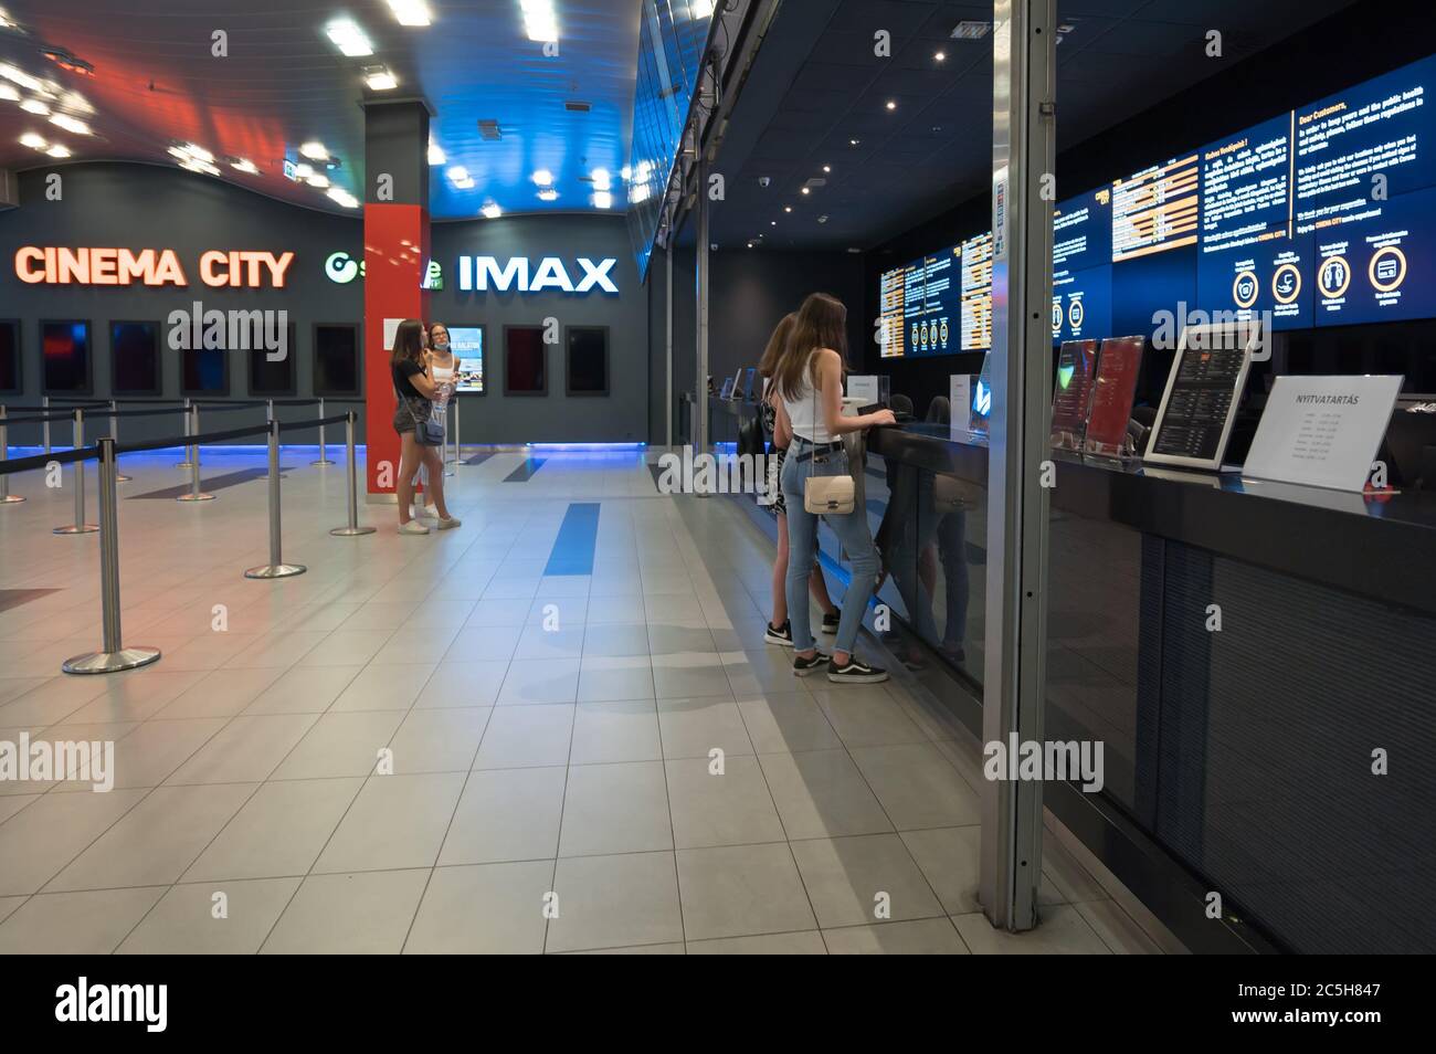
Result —
[[[323, 401], [313, 401], [322, 405]], [[286, 405], [313, 405], [313, 402], [304, 404], [286, 404]], [[237, 404], [225, 404], [237, 405]], [[263, 402], [248, 404], [250, 406], [266, 405]], [[188, 406], [188, 419], [197, 416], [197, 405], [191, 404]], [[113, 414], [115, 411], [112, 411]], [[154, 409], [145, 411], [148, 414], [157, 412], [174, 412], [174, 409]], [[284, 579], [293, 574], [303, 574], [307, 569], [303, 564], [287, 564], [283, 559], [281, 551], [281, 530], [280, 530], [280, 468], [279, 468], [279, 438], [283, 432], [293, 432], [302, 428], [323, 428], [325, 425], [336, 425], [343, 422], [345, 425], [345, 445], [348, 448], [348, 505], [349, 505], [349, 523], [345, 527], [335, 527], [329, 531], [339, 537], [355, 537], [360, 534], [372, 534], [373, 527], [359, 526], [359, 498], [358, 498], [358, 457], [355, 452], [355, 422], [358, 421], [358, 414], [355, 411], [348, 411], [345, 414], [333, 414], [329, 416], [314, 418], [312, 421], [267, 421], [263, 425], [250, 425], [247, 428], [228, 428], [218, 432], [204, 432], [200, 434], [197, 429], [191, 429], [182, 437], [165, 437], [162, 439], [151, 439], [146, 442], [128, 442], [121, 445], [115, 441], [115, 437], [106, 435], [93, 447], [85, 447], [83, 444], [83, 421], [85, 411], [82, 408], [75, 408], [69, 414], [59, 416], [73, 416], [75, 421], [75, 439], [76, 445], [67, 451], [55, 451], [46, 454], [33, 454], [24, 458], [10, 460], [7, 457], [9, 444], [4, 434], [7, 424], [4, 415], [4, 406], [0, 406], [0, 505], [16, 504], [24, 501], [23, 497], [11, 497], [9, 494], [10, 475], [16, 472], [26, 472], [34, 468], [47, 468], [50, 465], [69, 465], [73, 464], [75, 468], [75, 508], [76, 517], [75, 524], [66, 527], [56, 527], [56, 534], [80, 534], [80, 533], [99, 533], [101, 541], [101, 607], [102, 607], [102, 632], [103, 639], [101, 642], [101, 649], [96, 652], [86, 652], [85, 655], [76, 655], [66, 659], [60, 669], [66, 673], [113, 673], [123, 669], [135, 669], [136, 666], [145, 666], [151, 662], [159, 659], [158, 648], [148, 648], [142, 645], [125, 646], [123, 635], [121, 630], [121, 600], [119, 600], [119, 501], [118, 501], [118, 478], [119, 478], [119, 455], [121, 454], [138, 454], [141, 451], [152, 449], [167, 449], [175, 447], [177, 444], [190, 444], [192, 448], [198, 449], [201, 442], [221, 442], [224, 439], [238, 439], [246, 435], [269, 435], [269, 543], [270, 543], [270, 561], [260, 567], [250, 567], [244, 572], [247, 579]], [[10, 422], [16, 418], [10, 418]], [[83, 468], [85, 462], [89, 460], [99, 461], [99, 524], [92, 526], [85, 523], [85, 477]], [[198, 457], [194, 458], [192, 465], [192, 485], [188, 495], [182, 495], [180, 500], [185, 498], [195, 500], [192, 495], [198, 493], [200, 481], [200, 464]], [[213, 498], [214, 495], [202, 495], [198, 500]]]

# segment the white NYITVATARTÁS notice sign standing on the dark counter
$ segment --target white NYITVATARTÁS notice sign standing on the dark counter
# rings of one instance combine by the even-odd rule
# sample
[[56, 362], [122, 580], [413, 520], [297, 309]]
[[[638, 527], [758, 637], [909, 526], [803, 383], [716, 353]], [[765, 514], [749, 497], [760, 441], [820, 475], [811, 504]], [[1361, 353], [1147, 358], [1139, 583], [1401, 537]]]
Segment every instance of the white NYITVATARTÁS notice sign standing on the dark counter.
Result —
[[1242, 475], [1360, 491], [1391, 421], [1399, 376], [1279, 376]]

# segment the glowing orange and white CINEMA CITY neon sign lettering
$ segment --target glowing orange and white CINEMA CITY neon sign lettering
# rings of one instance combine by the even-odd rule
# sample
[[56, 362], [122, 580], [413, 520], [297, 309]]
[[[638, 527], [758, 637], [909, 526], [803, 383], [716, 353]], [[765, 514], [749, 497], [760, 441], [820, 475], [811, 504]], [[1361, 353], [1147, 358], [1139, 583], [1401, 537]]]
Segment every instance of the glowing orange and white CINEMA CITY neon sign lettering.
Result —
[[[284, 287], [293, 253], [218, 250], [200, 254], [200, 280], [214, 289]], [[14, 274], [32, 286], [188, 286], [172, 248], [67, 248], [26, 246], [16, 250]]]

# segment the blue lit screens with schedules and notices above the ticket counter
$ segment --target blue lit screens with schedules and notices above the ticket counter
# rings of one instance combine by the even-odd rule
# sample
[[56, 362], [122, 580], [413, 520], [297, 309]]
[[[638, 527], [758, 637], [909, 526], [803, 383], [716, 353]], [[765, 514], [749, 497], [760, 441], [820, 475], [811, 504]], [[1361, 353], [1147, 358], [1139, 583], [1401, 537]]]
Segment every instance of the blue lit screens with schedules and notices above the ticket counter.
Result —
[[[1159, 312], [1277, 330], [1436, 317], [1433, 90], [1429, 56], [1060, 201], [1053, 343], [1150, 333]], [[959, 339], [915, 345], [909, 323], [885, 356], [991, 346], [991, 244], [946, 250]], [[908, 273], [882, 276], [895, 317]]]

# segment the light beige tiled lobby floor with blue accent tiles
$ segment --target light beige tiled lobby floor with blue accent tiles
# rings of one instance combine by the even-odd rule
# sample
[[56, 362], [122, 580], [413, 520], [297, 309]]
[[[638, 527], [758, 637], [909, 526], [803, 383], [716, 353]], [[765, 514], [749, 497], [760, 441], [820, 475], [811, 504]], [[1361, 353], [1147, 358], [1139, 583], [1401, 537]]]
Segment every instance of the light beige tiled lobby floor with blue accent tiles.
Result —
[[[263, 480], [121, 501], [125, 639], [164, 658], [108, 678], [59, 673], [99, 643], [96, 536], [14, 481], [0, 589], [57, 592], [0, 612], [0, 740], [113, 740], [118, 773], [0, 783], [0, 952], [1157, 951], [1055, 846], [1044, 923], [987, 923], [974, 750], [903, 678], [791, 676], [729, 500], [659, 497], [639, 452], [524, 480], [501, 452], [451, 480], [461, 530], [362, 507], [381, 531], [335, 538], [343, 470], [312, 457], [284, 457], [293, 579], [241, 577]], [[174, 461], [126, 460], [122, 494]], [[576, 501], [592, 574], [544, 574]]]

